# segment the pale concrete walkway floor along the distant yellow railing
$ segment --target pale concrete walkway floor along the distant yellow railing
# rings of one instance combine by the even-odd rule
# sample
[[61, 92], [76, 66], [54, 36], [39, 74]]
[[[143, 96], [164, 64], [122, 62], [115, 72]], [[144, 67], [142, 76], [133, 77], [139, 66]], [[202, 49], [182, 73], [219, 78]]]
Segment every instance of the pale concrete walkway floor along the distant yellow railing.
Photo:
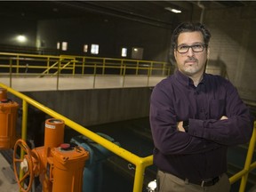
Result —
[[0, 82], [19, 92], [155, 86], [165, 76], [0, 76]]

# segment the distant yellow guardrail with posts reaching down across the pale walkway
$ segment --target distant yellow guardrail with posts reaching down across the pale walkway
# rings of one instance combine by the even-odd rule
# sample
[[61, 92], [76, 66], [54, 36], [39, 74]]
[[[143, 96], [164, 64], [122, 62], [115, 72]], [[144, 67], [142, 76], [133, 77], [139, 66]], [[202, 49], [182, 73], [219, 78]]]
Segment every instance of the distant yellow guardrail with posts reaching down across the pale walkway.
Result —
[[169, 63], [162, 61], [0, 52], [0, 75], [5, 77], [4, 84], [9, 81], [10, 87], [17, 79], [16, 77], [27, 76], [36, 77], [36, 80], [44, 76], [51, 79], [54, 77], [56, 81], [53, 86], [56, 86], [56, 90], [59, 90], [60, 79], [64, 77], [87, 78], [83, 85], [88, 86], [90, 82], [93, 89], [96, 88], [96, 82], [100, 76], [119, 77], [123, 82], [120, 88], [125, 87], [125, 80], [131, 79], [130, 76], [143, 78], [145, 80], [143, 86], [150, 86], [152, 79], [169, 76], [172, 70]]

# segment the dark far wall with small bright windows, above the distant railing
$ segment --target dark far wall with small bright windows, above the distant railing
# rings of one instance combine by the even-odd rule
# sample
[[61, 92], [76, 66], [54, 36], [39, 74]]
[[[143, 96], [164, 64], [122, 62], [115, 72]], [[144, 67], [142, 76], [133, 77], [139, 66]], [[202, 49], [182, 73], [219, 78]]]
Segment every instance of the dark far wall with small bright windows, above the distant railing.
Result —
[[[143, 60], [168, 60], [170, 28], [159, 28], [131, 20], [89, 15], [82, 19], [40, 20], [37, 41], [56, 49], [57, 42], [68, 42], [68, 54], [99, 57], [121, 57], [121, 48], [128, 49], [127, 59], [132, 59], [132, 47], [143, 48]], [[99, 55], [83, 52], [84, 44], [99, 44]], [[60, 52], [67, 54], [67, 52]]]

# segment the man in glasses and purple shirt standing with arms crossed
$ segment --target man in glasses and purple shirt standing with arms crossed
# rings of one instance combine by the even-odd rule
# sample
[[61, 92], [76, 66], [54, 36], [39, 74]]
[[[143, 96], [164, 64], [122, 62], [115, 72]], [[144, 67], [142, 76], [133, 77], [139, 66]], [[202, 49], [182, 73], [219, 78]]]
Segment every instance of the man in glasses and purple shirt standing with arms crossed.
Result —
[[172, 34], [178, 70], [156, 84], [150, 124], [158, 191], [226, 192], [227, 148], [248, 142], [252, 119], [236, 88], [205, 73], [211, 34], [182, 23]]

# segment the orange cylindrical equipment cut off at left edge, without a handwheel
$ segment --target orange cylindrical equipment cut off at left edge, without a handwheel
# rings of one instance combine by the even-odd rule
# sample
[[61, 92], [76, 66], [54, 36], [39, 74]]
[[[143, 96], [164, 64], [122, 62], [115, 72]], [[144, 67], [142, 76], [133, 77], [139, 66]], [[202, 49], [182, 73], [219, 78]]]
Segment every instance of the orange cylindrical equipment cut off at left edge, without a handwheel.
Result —
[[0, 88], [0, 149], [13, 148], [19, 104], [7, 99], [7, 91]]

